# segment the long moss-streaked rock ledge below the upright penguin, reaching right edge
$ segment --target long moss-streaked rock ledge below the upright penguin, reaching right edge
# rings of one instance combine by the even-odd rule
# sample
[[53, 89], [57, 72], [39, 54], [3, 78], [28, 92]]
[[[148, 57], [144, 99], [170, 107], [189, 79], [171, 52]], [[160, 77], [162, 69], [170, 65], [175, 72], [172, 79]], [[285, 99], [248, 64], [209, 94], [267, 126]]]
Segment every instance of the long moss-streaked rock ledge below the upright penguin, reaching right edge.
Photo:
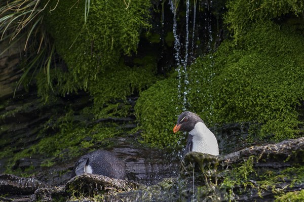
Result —
[[171, 182], [118, 193], [109, 201], [274, 201], [304, 189], [304, 137], [223, 156], [189, 152]]

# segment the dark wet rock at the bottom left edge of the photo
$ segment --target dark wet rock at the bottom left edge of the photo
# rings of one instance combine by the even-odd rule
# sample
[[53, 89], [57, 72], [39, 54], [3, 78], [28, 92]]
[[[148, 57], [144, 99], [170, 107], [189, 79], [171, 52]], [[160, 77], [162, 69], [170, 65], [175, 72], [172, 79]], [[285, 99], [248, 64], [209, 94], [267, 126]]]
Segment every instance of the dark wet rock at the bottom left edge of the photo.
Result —
[[32, 194], [38, 188], [46, 187], [46, 184], [34, 179], [23, 178], [15, 175], [0, 175], [0, 194], [27, 195]]

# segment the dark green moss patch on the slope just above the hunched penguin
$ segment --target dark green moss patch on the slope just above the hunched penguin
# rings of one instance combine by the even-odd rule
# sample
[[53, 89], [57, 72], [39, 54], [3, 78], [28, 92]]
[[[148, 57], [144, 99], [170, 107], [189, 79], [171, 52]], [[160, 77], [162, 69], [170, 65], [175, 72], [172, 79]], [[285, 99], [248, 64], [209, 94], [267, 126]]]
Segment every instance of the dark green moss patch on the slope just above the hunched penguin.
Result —
[[[83, 124], [73, 121], [73, 119], [69, 120], [70, 116], [73, 116], [73, 114], [59, 118], [57, 122], [59, 132], [55, 135], [41, 134], [44, 138], [33, 146], [36, 153], [52, 157], [51, 159], [57, 157], [63, 160], [66, 157], [73, 158], [82, 154], [82, 148], [88, 148], [98, 141], [121, 133], [120, 130], [117, 130], [116, 125], [97, 124], [87, 128]], [[92, 139], [86, 140], [88, 136]], [[62, 150], [62, 148], [65, 149]], [[46, 165], [52, 164], [46, 163]]]

